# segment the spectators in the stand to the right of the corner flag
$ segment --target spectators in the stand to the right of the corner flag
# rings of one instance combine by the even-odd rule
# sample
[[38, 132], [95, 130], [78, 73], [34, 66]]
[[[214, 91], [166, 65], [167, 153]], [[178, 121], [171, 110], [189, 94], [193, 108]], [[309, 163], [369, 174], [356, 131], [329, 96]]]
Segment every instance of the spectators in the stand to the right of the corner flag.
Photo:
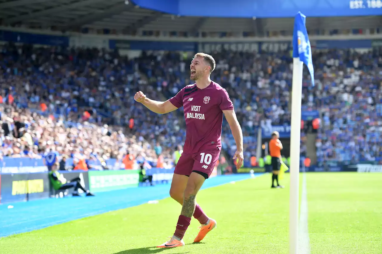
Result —
[[318, 81], [303, 102], [322, 113], [319, 163], [382, 162], [381, 53], [332, 50], [314, 56]]

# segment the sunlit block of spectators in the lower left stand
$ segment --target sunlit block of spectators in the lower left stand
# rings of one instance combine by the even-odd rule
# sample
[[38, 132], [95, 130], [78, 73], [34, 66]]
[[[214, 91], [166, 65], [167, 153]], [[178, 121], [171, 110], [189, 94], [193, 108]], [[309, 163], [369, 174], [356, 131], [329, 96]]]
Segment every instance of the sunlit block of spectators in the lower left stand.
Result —
[[[85, 158], [99, 162], [108, 159], [122, 160], [134, 154], [137, 162], [148, 161], [155, 166], [158, 156], [164, 156], [171, 166], [170, 150], [155, 153], [154, 147], [142, 136], [126, 133], [122, 127], [109, 127], [89, 122], [66, 122], [52, 115], [45, 117], [30, 109], [6, 107], [1, 114], [0, 133], [3, 156], [42, 158], [50, 150], [65, 158]], [[4, 107], [0, 108], [1, 110]]]

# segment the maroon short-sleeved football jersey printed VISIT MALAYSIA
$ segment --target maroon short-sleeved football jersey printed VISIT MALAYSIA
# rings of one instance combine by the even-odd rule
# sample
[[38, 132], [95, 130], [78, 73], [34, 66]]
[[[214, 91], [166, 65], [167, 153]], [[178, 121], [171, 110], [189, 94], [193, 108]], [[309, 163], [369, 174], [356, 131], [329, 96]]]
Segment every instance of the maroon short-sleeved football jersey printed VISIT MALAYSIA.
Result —
[[227, 91], [215, 82], [200, 89], [188, 85], [170, 99], [177, 108], [183, 106], [186, 121], [185, 153], [222, 149], [222, 110], [233, 110]]

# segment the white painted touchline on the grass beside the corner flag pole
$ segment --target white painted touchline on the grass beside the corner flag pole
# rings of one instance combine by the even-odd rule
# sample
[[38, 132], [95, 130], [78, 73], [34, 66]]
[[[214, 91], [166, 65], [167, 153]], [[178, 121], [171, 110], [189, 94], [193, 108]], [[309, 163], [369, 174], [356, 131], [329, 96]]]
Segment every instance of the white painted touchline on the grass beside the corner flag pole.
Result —
[[303, 186], [301, 192], [300, 217], [298, 223], [298, 253], [310, 254], [309, 232], [308, 232], [308, 200], [306, 195], [306, 173], [303, 172]]

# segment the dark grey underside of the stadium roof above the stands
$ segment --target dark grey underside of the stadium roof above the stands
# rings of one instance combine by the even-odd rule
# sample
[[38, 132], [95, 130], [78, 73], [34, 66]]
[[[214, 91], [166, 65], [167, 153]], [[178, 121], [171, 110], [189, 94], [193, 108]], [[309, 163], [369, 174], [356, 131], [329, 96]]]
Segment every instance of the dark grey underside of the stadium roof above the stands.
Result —
[[[127, 3], [127, 4], [126, 4]], [[76, 30], [137, 29], [184, 32], [254, 32], [293, 30], [293, 18], [183, 17], [139, 8], [121, 0], [0, 0], [0, 23], [26, 27]], [[369, 29], [382, 27], [382, 16], [307, 18], [311, 29]]]

